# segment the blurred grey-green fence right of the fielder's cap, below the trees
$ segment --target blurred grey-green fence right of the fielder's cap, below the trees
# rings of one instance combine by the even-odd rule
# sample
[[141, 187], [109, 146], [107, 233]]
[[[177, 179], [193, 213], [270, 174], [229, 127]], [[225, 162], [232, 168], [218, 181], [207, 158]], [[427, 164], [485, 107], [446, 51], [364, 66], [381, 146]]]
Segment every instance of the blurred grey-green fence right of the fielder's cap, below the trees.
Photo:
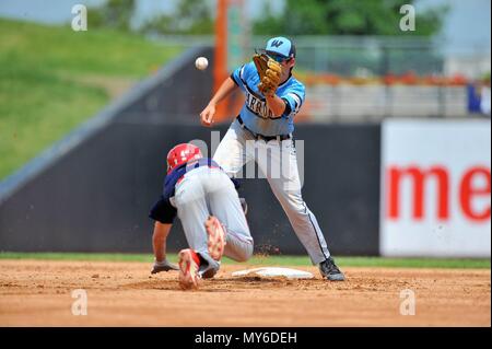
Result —
[[[255, 37], [251, 47], [265, 45]], [[444, 67], [436, 43], [424, 38], [372, 36], [297, 36], [293, 38], [297, 69], [344, 77], [388, 72], [440, 73]]]

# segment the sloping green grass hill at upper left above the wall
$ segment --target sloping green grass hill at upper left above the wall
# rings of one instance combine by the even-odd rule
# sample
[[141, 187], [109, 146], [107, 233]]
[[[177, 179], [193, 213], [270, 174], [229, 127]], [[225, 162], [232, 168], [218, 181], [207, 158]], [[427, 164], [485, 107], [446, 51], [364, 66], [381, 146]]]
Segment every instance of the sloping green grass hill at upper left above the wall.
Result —
[[0, 19], [0, 179], [183, 48], [107, 30]]

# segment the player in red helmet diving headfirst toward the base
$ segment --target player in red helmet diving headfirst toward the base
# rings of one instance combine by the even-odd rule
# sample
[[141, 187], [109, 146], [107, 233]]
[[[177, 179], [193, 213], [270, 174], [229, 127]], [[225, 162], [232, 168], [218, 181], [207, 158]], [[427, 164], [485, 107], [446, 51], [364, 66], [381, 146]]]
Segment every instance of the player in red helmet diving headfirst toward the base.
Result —
[[[161, 198], [149, 214], [154, 223], [155, 263], [152, 274], [179, 270], [183, 289], [197, 288], [201, 278], [212, 278], [222, 255], [246, 261], [253, 254], [253, 237], [234, 179], [200, 149], [183, 143], [167, 155], [167, 175]], [[165, 256], [166, 239], [179, 217], [190, 248], [179, 252], [179, 268]]]

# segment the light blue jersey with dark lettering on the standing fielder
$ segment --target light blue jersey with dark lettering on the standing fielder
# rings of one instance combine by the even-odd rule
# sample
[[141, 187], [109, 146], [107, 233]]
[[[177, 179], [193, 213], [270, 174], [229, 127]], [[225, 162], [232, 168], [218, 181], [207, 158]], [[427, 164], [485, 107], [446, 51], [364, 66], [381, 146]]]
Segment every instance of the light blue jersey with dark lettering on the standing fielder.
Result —
[[286, 102], [286, 108], [283, 115], [274, 116], [268, 108], [265, 96], [258, 91], [260, 80], [253, 61], [237, 68], [231, 78], [246, 94], [241, 118], [249, 130], [262, 136], [289, 135], [294, 131], [294, 116], [305, 97], [305, 88], [301, 82], [291, 75], [279, 85], [276, 94]]

